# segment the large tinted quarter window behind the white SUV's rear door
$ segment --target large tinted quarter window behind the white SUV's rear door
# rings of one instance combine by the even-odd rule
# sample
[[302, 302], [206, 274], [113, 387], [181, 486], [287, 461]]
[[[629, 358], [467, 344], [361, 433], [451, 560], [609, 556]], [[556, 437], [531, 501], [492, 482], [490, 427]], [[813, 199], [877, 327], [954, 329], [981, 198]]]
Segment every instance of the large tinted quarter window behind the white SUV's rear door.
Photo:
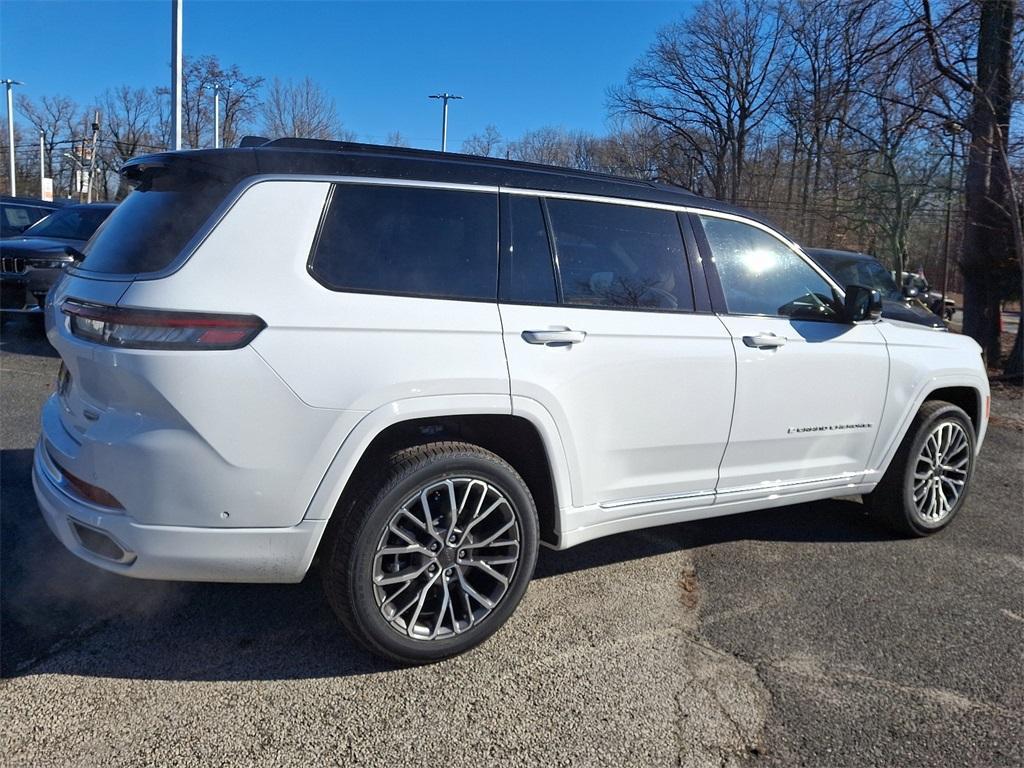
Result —
[[498, 196], [337, 184], [309, 271], [335, 291], [495, 301]]

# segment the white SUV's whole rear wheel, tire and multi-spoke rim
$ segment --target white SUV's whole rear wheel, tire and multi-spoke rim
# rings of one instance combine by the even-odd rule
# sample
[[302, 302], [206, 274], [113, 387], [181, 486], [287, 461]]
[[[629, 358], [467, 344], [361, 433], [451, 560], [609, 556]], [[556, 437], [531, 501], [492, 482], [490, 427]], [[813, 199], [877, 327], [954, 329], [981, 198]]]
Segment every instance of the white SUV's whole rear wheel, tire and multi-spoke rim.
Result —
[[519, 604], [537, 507], [498, 456], [465, 442], [403, 449], [351, 499], [335, 511], [321, 572], [332, 609], [371, 652], [438, 662], [482, 643]]

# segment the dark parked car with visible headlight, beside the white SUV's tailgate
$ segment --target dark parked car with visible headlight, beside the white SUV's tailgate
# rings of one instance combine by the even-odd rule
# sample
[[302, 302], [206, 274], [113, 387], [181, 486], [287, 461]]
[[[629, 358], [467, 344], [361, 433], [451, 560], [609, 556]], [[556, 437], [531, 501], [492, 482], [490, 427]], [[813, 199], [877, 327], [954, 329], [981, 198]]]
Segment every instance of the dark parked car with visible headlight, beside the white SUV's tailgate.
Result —
[[39, 312], [61, 271], [111, 215], [114, 203], [60, 208], [19, 236], [0, 240], [0, 310]]

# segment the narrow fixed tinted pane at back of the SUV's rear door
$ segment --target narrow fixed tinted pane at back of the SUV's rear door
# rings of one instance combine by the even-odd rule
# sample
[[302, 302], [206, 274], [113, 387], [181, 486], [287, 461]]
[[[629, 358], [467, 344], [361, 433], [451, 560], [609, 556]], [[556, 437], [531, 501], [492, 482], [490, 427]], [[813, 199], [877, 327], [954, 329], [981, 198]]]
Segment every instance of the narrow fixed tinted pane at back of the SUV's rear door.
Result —
[[509, 195], [506, 200], [508, 250], [502, 254], [502, 301], [555, 304], [555, 270], [541, 199]]

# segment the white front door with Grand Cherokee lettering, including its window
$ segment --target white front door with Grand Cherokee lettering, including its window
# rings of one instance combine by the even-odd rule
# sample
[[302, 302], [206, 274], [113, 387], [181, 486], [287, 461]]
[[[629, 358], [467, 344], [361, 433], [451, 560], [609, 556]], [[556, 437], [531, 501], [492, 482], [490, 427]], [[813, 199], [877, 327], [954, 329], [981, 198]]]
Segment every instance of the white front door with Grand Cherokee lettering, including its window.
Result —
[[889, 353], [842, 321], [833, 286], [772, 230], [692, 217], [736, 352], [736, 406], [717, 503], [859, 480], [878, 433]]

